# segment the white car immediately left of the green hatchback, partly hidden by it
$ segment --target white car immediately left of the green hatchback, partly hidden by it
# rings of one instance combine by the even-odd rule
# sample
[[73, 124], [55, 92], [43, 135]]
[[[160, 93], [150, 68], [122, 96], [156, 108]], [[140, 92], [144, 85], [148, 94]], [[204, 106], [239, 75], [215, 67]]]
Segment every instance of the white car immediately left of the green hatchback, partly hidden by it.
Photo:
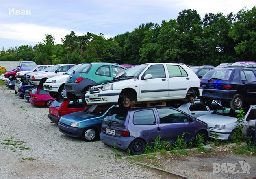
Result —
[[48, 91], [50, 96], [52, 96], [53, 98], [57, 98], [59, 96], [62, 99], [67, 99], [67, 93], [64, 88], [65, 82], [67, 81], [69, 75], [75, 72], [76, 69], [80, 66], [81, 64], [75, 65], [74, 67], [63, 73], [63, 75], [48, 78], [43, 84], [44, 90]]

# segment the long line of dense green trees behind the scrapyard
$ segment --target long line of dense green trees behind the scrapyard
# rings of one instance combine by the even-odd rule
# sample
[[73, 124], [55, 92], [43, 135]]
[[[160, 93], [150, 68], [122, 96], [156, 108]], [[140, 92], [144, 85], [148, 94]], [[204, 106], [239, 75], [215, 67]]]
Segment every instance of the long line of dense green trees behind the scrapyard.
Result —
[[56, 44], [46, 34], [35, 46], [0, 51], [0, 60], [35, 61], [37, 64], [111, 62], [142, 64], [152, 62], [218, 65], [255, 61], [256, 6], [237, 14], [207, 13], [201, 19], [196, 10], [183, 10], [177, 19], [141, 24], [131, 32], [105, 38], [103, 34], [74, 31]]

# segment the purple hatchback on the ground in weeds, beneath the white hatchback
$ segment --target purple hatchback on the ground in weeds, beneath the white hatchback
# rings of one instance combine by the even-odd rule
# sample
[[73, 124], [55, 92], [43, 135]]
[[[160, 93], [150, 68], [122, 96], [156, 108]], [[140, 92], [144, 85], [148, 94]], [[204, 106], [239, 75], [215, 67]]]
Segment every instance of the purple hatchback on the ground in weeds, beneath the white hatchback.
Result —
[[103, 120], [100, 139], [106, 145], [129, 149], [132, 155], [139, 155], [147, 143], [154, 145], [156, 136], [173, 143], [183, 132], [186, 132], [186, 142], [200, 134], [205, 136], [206, 143], [210, 134], [206, 123], [173, 107], [115, 107]]

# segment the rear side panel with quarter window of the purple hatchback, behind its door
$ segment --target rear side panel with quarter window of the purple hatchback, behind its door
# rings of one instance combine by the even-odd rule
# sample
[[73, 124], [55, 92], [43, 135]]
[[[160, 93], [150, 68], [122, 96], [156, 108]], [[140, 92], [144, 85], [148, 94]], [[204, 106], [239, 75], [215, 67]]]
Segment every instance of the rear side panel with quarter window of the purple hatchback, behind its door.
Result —
[[160, 135], [156, 119], [153, 109], [131, 111], [128, 126], [131, 136], [143, 138], [149, 144], [154, 143], [154, 139]]

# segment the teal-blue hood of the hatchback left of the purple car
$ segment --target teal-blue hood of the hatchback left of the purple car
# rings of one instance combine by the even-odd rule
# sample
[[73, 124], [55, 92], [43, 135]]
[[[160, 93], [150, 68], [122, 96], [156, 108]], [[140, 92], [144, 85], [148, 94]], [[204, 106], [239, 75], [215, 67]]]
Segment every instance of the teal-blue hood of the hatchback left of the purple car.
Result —
[[61, 123], [70, 125], [71, 123], [80, 123], [85, 121], [95, 121], [102, 119], [102, 116], [96, 116], [84, 111], [74, 112], [61, 117]]

